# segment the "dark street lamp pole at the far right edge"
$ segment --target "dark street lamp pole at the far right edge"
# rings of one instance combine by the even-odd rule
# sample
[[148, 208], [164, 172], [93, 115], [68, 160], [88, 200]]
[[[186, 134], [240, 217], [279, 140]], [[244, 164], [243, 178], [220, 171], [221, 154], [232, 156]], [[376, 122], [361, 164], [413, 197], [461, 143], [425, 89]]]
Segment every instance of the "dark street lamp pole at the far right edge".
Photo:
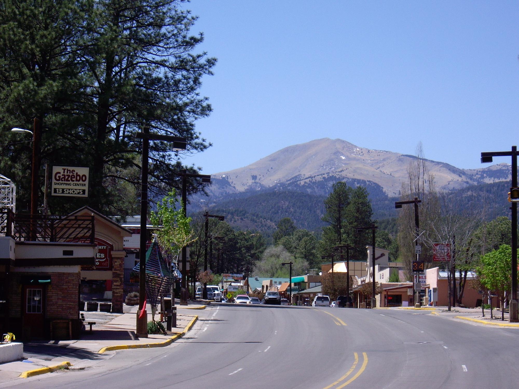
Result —
[[[489, 151], [481, 153], [481, 163], [492, 162], [492, 157], [512, 157], [512, 187], [517, 187], [517, 146], [511, 151]], [[512, 300], [510, 301], [510, 323], [519, 322], [519, 301], [517, 299], [517, 202], [512, 201]]]

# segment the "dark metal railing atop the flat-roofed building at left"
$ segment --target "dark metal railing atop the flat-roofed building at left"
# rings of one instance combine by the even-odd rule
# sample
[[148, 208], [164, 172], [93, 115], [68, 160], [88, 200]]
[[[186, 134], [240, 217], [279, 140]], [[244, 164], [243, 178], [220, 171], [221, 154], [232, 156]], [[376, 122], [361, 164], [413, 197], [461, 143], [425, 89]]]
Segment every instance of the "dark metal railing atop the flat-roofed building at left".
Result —
[[0, 234], [15, 241], [94, 244], [94, 216], [27, 215], [0, 211]]

